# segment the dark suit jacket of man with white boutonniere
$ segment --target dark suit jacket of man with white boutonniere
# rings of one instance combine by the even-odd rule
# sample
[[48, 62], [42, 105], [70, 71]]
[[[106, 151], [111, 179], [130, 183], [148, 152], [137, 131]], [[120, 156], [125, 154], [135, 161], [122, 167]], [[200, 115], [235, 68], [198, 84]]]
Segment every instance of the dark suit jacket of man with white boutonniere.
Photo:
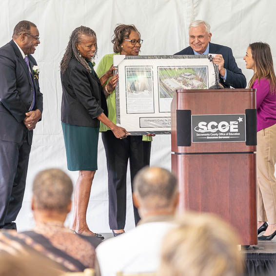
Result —
[[[31, 71], [36, 60], [28, 55]], [[36, 92], [36, 105], [42, 113], [42, 94], [39, 81], [33, 82]], [[20, 143], [27, 130], [23, 120], [33, 99], [28, 67], [19, 48], [13, 40], [0, 48], [0, 140]], [[28, 131], [28, 143], [32, 144], [33, 131]]]

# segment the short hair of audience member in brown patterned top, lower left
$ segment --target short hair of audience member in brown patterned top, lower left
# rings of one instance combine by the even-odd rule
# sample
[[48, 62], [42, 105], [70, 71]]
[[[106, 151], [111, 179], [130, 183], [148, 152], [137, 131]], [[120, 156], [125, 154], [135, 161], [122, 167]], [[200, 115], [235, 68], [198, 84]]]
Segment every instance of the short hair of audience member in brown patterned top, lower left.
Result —
[[35, 207], [39, 210], [66, 211], [72, 192], [70, 177], [59, 169], [41, 171], [33, 182]]

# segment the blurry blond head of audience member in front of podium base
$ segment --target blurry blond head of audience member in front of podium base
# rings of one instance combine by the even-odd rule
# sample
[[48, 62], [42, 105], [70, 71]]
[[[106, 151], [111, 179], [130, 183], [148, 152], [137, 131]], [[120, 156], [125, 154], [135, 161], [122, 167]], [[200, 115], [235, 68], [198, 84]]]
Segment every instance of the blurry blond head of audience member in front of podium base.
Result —
[[210, 214], [188, 213], [162, 244], [158, 276], [240, 276], [243, 262], [230, 225]]

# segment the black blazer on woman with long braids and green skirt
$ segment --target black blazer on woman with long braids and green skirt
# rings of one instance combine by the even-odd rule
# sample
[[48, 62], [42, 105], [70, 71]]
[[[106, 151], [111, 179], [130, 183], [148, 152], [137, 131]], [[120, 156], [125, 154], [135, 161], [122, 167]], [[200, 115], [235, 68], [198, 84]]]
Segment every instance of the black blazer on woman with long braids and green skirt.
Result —
[[61, 121], [72, 125], [99, 127], [97, 117], [107, 104], [99, 78], [95, 72], [88, 72], [73, 57], [62, 74]]

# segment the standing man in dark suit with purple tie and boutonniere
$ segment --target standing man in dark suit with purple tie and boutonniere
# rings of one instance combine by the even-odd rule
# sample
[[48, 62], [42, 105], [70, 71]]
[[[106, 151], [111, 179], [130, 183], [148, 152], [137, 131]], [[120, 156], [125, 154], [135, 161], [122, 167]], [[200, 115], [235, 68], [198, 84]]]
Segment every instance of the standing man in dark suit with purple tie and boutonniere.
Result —
[[42, 94], [33, 54], [39, 30], [20, 21], [0, 48], [0, 228], [16, 229], [24, 196], [33, 129], [41, 119]]

